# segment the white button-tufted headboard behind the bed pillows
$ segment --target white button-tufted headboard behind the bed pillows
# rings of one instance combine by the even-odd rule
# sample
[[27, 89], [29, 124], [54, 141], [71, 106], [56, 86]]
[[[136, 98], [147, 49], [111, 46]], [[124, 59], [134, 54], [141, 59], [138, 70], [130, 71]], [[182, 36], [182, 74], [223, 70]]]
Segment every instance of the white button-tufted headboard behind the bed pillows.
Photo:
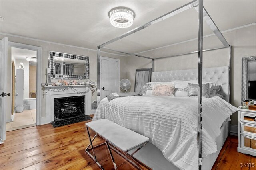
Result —
[[[152, 72], [152, 82], [168, 82], [173, 80], [198, 80], [198, 70], [172, 70]], [[212, 82], [222, 86], [225, 93], [224, 100], [229, 102], [229, 67], [203, 68], [203, 81]]]

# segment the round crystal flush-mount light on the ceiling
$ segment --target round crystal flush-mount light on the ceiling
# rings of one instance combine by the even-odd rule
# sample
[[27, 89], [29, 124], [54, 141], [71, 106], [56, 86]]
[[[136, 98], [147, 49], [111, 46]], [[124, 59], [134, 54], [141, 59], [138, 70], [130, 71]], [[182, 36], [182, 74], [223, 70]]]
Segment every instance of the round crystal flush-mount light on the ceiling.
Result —
[[128, 28], [132, 26], [135, 13], [126, 7], [116, 7], [108, 12], [110, 23], [117, 28]]

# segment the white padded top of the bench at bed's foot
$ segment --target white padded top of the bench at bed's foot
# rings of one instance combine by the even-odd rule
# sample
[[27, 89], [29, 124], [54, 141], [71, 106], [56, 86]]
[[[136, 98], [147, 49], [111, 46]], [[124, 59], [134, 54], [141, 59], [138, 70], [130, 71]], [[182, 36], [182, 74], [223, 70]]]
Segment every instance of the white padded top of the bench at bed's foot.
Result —
[[86, 126], [123, 152], [138, 147], [149, 140], [148, 137], [140, 135], [107, 119], [91, 121], [86, 123]]

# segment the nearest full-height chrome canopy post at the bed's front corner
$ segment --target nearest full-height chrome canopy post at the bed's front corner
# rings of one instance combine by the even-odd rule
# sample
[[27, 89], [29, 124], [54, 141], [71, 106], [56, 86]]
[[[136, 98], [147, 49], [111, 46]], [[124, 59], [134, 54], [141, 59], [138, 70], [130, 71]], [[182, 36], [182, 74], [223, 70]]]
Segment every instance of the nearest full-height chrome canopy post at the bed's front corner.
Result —
[[197, 149], [198, 169], [202, 169], [202, 80], [203, 80], [203, 0], [198, 2], [198, 124], [197, 124]]

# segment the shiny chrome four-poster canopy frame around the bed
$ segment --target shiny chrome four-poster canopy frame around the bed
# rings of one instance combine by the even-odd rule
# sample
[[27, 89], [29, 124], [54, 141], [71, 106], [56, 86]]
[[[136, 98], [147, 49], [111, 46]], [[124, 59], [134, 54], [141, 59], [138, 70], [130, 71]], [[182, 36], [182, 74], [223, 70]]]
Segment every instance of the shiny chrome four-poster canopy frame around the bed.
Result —
[[[190, 53], [183, 53], [183, 54], [179, 54], [179, 55], [170, 55], [170, 56], [165, 56], [165, 57], [158, 57], [158, 58], [152, 58], [152, 57], [147, 57], [147, 56], [143, 56], [143, 55], [138, 55], [138, 54], [133, 54], [133, 53], [127, 53], [127, 52], [122, 52], [122, 51], [117, 51], [114, 49], [109, 49], [107, 47], [105, 47], [106, 45], [109, 45], [110, 43], [113, 43], [115, 41], [118, 41], [124, 37], [127, 37], [129, 35], [132, 35], [133, 33], [136, 33], [142, 29], [145, 29], [147, 27], [149, 27], [150, 25], [153, 25], [155, 23], [158, 23], [162, 20], [165, 20], [167, 18], [170, 18], [171, 16], [174, 16], [180, 12], [183, 12], [185, 10], [188, 10], [189, 8], [195, 8], [195, 10], [198, 12], [198, 51], [194, 51], [194, 52], [190, 52]], [[214, 34], [216, 35], [216, 37], [218, 37], [218, 39], [221, 41], [221, 43], [223, 44], [224, 47], [220, 47], [220, 48], [214, 48], [214, 49], [206, 49], [203, 50], [203, 21], [206, 21], [206, 23], [210, 26], [210, 29], [214, 32]], [[226, 41], [226, 39], [224, 38], [224, 36], [222, 35], [222, 33], [220, 32], [220, 30], [218, 29], [218, 27], [216, 26], [216, 24], [214, 23], [214, 21], [212, 20], [212, 18], [210, 17], [210, 15], [208, 14], [208, 12], [206, 11], [206, 9], [203, 6], [203, 0], [193, 0], [192, 2], [189, 2], [179, 8], [176, 8], [175, 10], [172, 10], [171, 12], [168, 12], [152, 21], [149, 21], [143, 25], [141, 25], [140, 27], [137, 27], [135, 29], [132, 29], [131, 31], [128, 31], [126, 33], [124, 33], [123, 35], [120, 35], [119, 37], [116, 37], [106, 43], [103, 43], [99, 46], [97, 46], [97, 73], [98, 73], [98, 79], [97, 79], [97, 83], [98, 83], [98, 96], [100, 96], [100, 51], [101, 49], [107, 49], [110, 51], [115, 51], [118, 53], [122, 53], [122, 54], [127, 54], [127, 55], [133, 55], [133, 56], [137, 56], [137, 57], [142, 57], [142, 58], [146, 58], [146, 59], [151, 59], [152, 60], [152, 72], [153, 72], [153, 76], [154, 76], [154, 61], [155, 60], [159, 60], [159, 59], [165, 59], [165, 58], [169, 58], [169, 57], [175, 57], [175, 56], [181, 56], [181, 55], [188, 55], [188, 54], [193, 54], [193, 53], [197, 53], [198, 54], [198, 70], [197, 70], [197, 76], [198, 76], [198, 133], [197, 133], [197, 145], [198, 145], [198, 169], [202, 169], [202, 81], [203, 81], [203, 52], [204, 51], [212, 51], [212, 50], [217, 50], [217, 49], [224, 49], [224, 48], [229, 48], [229, 68], [228, 68], [228, 99], [227, 101], [230, 102], [230, 68], [231, 68], [231, 45], [228, 44], [228, 42]], [[155, 78], [152, 78], [153, 80]]]

